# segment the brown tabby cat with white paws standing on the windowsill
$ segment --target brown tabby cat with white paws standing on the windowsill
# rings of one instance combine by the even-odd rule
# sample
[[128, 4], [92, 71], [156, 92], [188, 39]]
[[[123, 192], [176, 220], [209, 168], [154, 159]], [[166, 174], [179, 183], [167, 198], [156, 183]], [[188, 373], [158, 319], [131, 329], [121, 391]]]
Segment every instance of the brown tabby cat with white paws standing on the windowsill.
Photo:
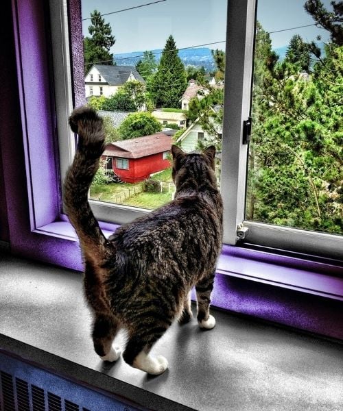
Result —
[[64, 204], [80, 239], [84, 290], [94, 314], [93, 344], [102, 360], [121, 355], [113, 347], [121, 327], [128, 332], [123, 359], [158, 375], [163, 356], [150, 355], [174, 319], [191, 320], [190, 291], [196, 286], [197, 319], [211, 329], [209, 314], [215, 265], [222, 248], [222, 197], [215, 178], [215, 147], [186, 154], [171, 147], [174, 200], [122, 225], [105, 238], [88, 204], [88, 189], [104, 151], [104, 127], [95, 110], [73, 110], [69, 125], [78, 150], [64, 180]]

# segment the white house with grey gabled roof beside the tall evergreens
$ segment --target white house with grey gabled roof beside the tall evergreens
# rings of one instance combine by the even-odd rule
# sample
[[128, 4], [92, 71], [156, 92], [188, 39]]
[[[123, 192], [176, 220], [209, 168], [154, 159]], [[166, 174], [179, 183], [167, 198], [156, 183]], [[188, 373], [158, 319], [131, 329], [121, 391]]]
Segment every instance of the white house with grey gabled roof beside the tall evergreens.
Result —
[[86, 98], [91, 96], [110, 97], [128, 80], [139, 80], [145, 84], [143, 77], [133, 66], [93, 64], [84, 78]]

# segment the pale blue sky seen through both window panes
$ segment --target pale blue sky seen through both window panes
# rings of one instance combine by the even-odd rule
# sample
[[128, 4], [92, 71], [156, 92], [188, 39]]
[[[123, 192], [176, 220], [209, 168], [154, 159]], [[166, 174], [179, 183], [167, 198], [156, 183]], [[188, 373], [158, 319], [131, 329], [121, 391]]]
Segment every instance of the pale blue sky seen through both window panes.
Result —
[[[89, 18], [95, 9], [104, 14], [153, 1], [156, 0], [82, 0], [82, 18]], [[331, 10], [330, 0], [322, 2]], [[268, 32], [310, 25], [314, 21], [303, 9], [304, 3], [305, 0], [259, 0], [257, 18]], [[117, 54], [163, 49], [170, 34], [178, 48], [220, 42], [206, 47], [224, 50], [226, 4], [227, 0], [165, 0], [104, 16], [116, 39], [110, 51]], [[91, 21], [84, 20], [82, 24], [84, 36], [88, 36]], [[328, 38], [323, 29], [303, 27], [271, 34], [272, 47], [287, 46], [294, 34], [305, 40], [315, 40], [318, 34], [323, 40]]]

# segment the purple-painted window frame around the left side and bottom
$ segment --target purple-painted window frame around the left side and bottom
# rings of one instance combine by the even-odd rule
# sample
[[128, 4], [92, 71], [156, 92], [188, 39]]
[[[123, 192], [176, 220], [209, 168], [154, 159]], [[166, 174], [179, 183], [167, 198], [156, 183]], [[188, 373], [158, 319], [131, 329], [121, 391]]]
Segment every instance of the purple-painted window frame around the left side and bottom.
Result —
[[[9, 99], [0, 106], [6, 120], [0, 140], [0, 189], [4, 188], [0, 206], [6, 208], [5, 236], [14, 255], [82, 271], [78, 242], [61, 209], [46, 3], [12, 0], [13, 21], [5, 22], [13, 32], [6, 45], [12, 60], [7, 66], [1, 62], [0, 69], [10, 65], [7, 73], [16, 90], [11, 91], [11, 84], [5, 86]], [[80, 0], [69, 0], [75, 106], [84, 103], [80, 15]], [[25, 164], [25, 172], [18, 162]], [[102, 224], [105, 232], [116, 227]], [[341, 264], [329, 261], [224, 246], [212, 303], [343, 340], [342, 273]]]

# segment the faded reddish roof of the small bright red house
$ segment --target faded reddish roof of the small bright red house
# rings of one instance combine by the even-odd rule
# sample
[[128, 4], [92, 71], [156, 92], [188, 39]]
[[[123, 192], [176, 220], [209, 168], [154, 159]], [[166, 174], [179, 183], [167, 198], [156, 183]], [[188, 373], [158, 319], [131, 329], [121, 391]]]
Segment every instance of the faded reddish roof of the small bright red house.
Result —
[[110, 142], [103, 155], [122, 158], [141, 158], [171, 149], [171, 137], [164, 133]]

